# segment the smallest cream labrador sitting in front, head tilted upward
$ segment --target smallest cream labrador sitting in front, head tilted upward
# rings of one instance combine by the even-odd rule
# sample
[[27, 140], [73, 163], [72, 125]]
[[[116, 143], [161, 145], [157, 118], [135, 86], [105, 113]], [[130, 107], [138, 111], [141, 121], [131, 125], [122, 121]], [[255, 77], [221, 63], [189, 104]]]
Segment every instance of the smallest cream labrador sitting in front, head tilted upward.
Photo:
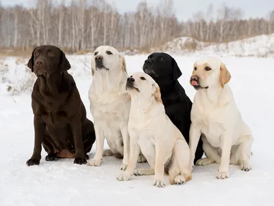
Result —
[[[117, 179], [127, 181], [132, 174], [155, 174], [154, 185], [164, 187], [166, 171], [171, 184], [189, 181], [190, 149], [164, 111], [158, 84], [146, 73], [137, 72], [127, 78], [126, 88], [132, 98], [128, 124], [129, 166]], [[151, 168], [134, 170], [140, 150]]]

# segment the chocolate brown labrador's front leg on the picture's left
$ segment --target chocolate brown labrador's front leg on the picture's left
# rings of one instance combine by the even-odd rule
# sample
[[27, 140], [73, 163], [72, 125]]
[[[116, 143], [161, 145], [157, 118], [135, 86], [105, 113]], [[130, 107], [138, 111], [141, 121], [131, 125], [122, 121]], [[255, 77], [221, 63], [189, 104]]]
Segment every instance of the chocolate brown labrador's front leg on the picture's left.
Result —
[[46, 124], [42, 119], [34, 116], [34, 153], [31, 159], [26, 163], [27, 165], [39, 165], [42, 151], [42, 140], [44, 138]]

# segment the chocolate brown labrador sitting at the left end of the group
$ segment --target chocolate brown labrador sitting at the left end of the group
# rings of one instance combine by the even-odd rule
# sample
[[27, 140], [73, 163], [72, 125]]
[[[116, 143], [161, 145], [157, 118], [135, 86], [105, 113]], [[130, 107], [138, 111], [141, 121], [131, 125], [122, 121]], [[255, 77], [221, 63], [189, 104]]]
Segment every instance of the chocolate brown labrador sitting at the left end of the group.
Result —
[[48, 154], [46, 161], [75, 158], [74, 163], [85, 164], [95, 129], [67, 72], [69, 60], [60, 48], [42, 45], [34, 49], [27, 67], [37, 76], [32, 90], [34, 152], [27, 165], [40, 163], [42, 146]]

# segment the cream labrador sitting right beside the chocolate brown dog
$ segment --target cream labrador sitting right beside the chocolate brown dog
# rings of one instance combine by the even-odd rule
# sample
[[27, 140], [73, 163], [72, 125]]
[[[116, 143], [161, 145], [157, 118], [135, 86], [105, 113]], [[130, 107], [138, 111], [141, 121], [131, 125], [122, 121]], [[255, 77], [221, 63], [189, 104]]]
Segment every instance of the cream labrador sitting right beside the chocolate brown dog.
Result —
[[[90, 166], [101, 165], [103, 156], [123, 157], [121, 170], [125, 170], [129, 158], [129, 119], [130, 100], [125, 91], [127, 70], [125, 59], [110, 46], [101, 46], [92, 56], [92, 84], [89, 90], [90, 112], [95, 125], [96, 152], [88, 163]], [[110, 150], [103, 150], [107, 139]], [[145, 161], [144, 157], [139, 161]]]

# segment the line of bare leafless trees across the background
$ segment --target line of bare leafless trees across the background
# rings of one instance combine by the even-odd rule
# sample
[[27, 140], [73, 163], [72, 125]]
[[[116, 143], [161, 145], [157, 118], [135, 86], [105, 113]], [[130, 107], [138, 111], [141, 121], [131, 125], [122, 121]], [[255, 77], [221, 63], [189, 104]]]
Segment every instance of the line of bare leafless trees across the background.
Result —
[[63, 0], [58, 5], [36, 0], [34, 8], [0, 4], [0, 47], [26, 49], [52, 44], [71, 52], [99, 45], [145, 49], [180, 36], [224, 43], [274, 33], [274, 11], [256, 19], [244, 19], [242, 10], [226, 5], [216, 11], [216, 18], [213, 12], [210, 4], [188, 21], [179, 21], [173, 0], [161, 0], [153, 8], [142, 1], [134, 12], [124, 14], [105, 0]]

